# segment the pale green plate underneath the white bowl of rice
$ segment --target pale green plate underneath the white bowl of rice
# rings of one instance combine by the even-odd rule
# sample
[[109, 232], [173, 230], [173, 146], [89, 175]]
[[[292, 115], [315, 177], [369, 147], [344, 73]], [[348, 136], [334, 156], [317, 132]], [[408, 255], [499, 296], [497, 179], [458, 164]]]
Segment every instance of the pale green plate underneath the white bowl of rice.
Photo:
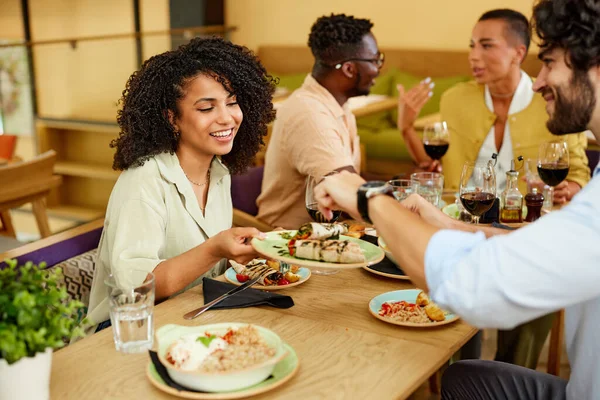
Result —
[[300, 360], [298, 355], [287, 343], [284, 343], [284, 347], [288, 351], [287, 357], [278, 362], [271, 373], [271, 377], [258, 383], [254, 386], [250, 386], [245, 389], [237, 390], [235, 392], [225, 393], [206, 393], [206, 392], [188, 392], [174, 389], [167, 385], [165, 381], [160, 377], [156, 368], [152, 362], [148, 363], [146, 369], [146, 376], [150, 380], [150, 383], [157, 389], [171, 394], [173, 396], [181, 397], [184, 399], [201, 399], [201, 400], [228, 400], [228, 399], [241, 399], [249, 396], [254, 396], [260, 393], [273, 390], [289, 381], [298, 371], [300, 366]]

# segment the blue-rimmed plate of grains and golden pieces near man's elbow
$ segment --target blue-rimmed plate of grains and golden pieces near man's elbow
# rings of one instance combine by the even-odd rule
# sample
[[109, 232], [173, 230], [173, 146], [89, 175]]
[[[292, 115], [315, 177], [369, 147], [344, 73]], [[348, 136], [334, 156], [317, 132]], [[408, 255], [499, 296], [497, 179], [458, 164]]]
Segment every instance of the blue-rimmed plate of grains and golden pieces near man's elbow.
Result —
[[442, 310], [419, 289], [395, 290], [374, 297], [369, 302], [371, 314], [394, 325], [429, 328], [450, 324], [458, 316]]

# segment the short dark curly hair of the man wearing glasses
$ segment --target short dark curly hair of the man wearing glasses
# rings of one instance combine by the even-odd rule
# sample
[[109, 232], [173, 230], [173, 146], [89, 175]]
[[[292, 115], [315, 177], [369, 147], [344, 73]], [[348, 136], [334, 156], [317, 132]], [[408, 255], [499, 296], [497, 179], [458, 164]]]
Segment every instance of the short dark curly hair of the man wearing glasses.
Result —
[[373, 23], [368, 19], [346, 14], [331, 14], [317, 19], [308, 35], [308, 47], [317, 61], [336, 63], [353, 57], [362, 38], [371, 32]]

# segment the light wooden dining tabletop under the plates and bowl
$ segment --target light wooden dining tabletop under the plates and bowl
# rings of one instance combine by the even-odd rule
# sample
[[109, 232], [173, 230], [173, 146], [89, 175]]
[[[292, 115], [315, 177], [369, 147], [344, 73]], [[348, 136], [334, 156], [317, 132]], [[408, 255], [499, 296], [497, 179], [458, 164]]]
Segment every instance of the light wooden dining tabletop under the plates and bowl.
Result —
[[[376, 295], [409, 288], [414, 288], [409, 281], [364, 269], [313, 274], [279, 291], [293, 298], [295, 305], [289, 309], [212, 309], [185, 320], [183, 314], [204, 303], [199, 286], [157, 305], [154, 326], [243, 322], [275, 331], [295, 349], [300, 367], [291, 380], [253, 399], [404, 399], [476, 332], [462, 320], [407, 328], [369, 313], [369, 301]], [[117, 352], [112, 329], [105, 329], [54, 353], [51, 397], [174, 398], [152, 386], [146, 377], [149, 362], [147, 353]]]

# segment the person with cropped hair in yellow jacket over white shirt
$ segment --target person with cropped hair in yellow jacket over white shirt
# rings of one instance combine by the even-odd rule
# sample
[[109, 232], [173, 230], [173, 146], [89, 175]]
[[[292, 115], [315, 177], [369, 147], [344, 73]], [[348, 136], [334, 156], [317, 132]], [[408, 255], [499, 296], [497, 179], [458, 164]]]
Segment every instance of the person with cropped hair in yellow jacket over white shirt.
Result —
[[[544, 99], [533, 92], [532, 79], [520, 65], [530, 42], [527, 18], [513, 10], [492, 10], [481, 16], [473, 28], [469, 63], [474, 81], [461, 83], [442, 96], [440, 112], [450, 129], [450, 147], [442, 158], [446, 187], [458, 189], [466, 161], [489, 160], [498, 153], [498, 190], [504, 189], [506, 171], [518, 156], [537, 159], [541, 143], [556, 140], [546, 128]], [[413, 132], [403, 134], [414, 136]], [[555, 189], [555, 202], [570, 200], [590, 179], [585, 155], [584, 134], [567, 135], [570, 170], [567, 179]], [[424, 158], [418, 140], [406, 140], [421, 165]], [[420, 156], [419, 156], [420, 155]], [[521, 191], [526, 192], [521, 182]], [[515, 271], [518, 274], [518, 271]], [[536, 368], [539, 354], [552, 325], [553, 315], [545, 316], [510, 331], [498, 332], [496, 359]], [[477, 335], [462, 351], [463, 358], [478, 358], [481, 336]]]

